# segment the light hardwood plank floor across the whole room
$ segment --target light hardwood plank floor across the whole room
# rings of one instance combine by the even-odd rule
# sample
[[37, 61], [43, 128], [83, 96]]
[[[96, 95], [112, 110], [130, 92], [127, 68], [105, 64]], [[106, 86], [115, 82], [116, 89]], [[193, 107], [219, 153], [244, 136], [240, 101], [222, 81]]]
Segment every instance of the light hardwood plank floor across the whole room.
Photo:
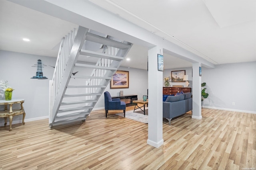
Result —
[[48, 119], [0, 127], [0, 169], [256, 170], [256, 114], [204, 108], [201, 120], [191, 112], [163, 120], [157, 149], [147, 145], [147, 124], [114, 113], [53, 129]]

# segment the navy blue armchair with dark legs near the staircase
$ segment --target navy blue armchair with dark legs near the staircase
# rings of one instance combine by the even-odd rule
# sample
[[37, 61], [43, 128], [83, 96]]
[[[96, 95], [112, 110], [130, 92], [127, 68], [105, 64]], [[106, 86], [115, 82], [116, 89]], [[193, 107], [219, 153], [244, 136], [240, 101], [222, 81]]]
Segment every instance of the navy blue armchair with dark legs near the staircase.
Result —
[[124, 110], [124, 117], [125, 117], [125, 109], [126, 109], [125, 102], [121, 102], [120, 99], [112, 99], [108, 91], [104, 92], [104, 97], [105, 97], [106, 117], [108, 114], [108, 110]]

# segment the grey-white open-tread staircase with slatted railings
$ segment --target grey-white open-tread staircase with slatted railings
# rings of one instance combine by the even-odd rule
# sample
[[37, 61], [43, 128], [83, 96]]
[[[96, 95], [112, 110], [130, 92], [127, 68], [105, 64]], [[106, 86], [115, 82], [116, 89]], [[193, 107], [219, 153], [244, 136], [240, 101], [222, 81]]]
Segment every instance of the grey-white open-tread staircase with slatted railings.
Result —
[[82, 26], [63, 37], [50, 80], [49, 127], [85, 121], [131, 47]]

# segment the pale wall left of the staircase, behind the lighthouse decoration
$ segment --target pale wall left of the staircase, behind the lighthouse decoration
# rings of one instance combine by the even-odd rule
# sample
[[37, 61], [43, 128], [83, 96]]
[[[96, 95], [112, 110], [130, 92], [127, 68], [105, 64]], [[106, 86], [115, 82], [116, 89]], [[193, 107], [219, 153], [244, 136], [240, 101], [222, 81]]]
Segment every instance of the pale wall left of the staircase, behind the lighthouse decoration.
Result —
[[[31, 79], [36, 76], [37, 60], [47, 65], [42, 68], [44, 76], [48, 79]], [[52, 79], [56, 58], [15, 53], [10, 51], [0, 51], [0, 79], [8, 80], [9, 85], [15, 90], [12, 98], [25, 99], [23, 104], [26, 117], [25, 119], [34, 120], [38, 117], [48, 116], [49, 110], [49, 80]], [[50, 66], [48, 66], [50, 65]], [[4, 100], [4, 92], [0, 91], [0, 99]], [[14, 106], [14, 108], [20, 106]], [[3, 109], [1, 106], [0, 109]], [[22, 116], [14, 116], [13, 121], [22, 121]], [[4, 119], [0, 119], [1, 124]]]

